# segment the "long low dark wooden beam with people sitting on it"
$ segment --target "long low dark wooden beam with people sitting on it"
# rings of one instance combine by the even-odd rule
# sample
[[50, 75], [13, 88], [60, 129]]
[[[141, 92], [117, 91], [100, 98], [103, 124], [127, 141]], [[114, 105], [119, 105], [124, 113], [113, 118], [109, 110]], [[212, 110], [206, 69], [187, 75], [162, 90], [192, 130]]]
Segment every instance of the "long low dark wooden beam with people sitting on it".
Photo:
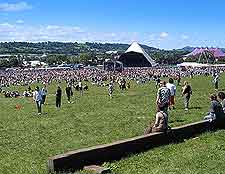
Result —
[[153, 147], [187, 139], [215, 128], [225, 128], [225, 120], [209, 122], [206, 120], [179, 126], [167, 133], [152, 133], [128, 138], [110, 144], [97, 145], [78, 149], [65, 154], [50, 157], [48, 169], [50, 173], [60, 171], [74, 172], [88, 165], [100, 165], [104, 162], [119, 160], [130, 154], [139, 153]]

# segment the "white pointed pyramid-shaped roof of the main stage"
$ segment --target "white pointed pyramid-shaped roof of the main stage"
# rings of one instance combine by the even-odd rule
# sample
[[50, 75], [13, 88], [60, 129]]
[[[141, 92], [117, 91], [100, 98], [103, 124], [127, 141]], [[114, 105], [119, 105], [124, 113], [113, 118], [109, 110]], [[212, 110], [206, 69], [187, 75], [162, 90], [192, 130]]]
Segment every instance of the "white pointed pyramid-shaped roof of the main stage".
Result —
[[129, 52], [140, 53], [148, 60], [148, 62], [152, 66], [157, 65], [157, 63], [145, 52], [145, 50], [137, 42], [133, 42], [125, 53], [129, 53]]

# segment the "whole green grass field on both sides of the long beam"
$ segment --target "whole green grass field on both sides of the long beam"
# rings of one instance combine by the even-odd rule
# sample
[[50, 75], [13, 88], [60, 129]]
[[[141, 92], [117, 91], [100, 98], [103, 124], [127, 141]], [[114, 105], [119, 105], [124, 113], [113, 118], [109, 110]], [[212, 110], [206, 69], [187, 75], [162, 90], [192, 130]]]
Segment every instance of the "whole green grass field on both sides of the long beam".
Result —
[[[225, 76], [221, 77], [222, 84]], [[170, 125], [201, 120], [208, 110], [209, 94], [214, 92], [211, 77], [188, 79], [193, 87], [191, 109], [184, 112], [178, 87], [176, 110], [170, 111]], [[25, 87], [13, 87], [23, 91]], [[65, 89], [65, 84], [62, 84]], [[48, 87], [47, 105], [41, 116], [31, 98], [0, 97], [0, 173], [47, 173], [47, 159], [69, 150], [110, 143], [143, 134], [155, 115], [154, 82], [131, 83], [131, 89], [116, 87], [113, 99], [107, 89], [89, 85], [74, 103], [63, 96], [62, 108], [55, 108], [56, 85]], [[64, 90], [65, 93], [65, 90]], [[21, 105], [20, 110], [16, 105]], [[224, 173], [225, 131], [208, 133], [199, 139], [155, 148], [130, 158], [106, 163], [114, 173]]]

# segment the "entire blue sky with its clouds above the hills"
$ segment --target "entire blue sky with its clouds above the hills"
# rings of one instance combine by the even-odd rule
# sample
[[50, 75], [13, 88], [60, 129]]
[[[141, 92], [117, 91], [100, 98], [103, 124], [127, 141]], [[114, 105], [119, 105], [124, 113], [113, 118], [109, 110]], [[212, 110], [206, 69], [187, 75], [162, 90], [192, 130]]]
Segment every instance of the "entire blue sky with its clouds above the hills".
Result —
[[225, 47], [223, 0], [0, 0], [0, 41]]

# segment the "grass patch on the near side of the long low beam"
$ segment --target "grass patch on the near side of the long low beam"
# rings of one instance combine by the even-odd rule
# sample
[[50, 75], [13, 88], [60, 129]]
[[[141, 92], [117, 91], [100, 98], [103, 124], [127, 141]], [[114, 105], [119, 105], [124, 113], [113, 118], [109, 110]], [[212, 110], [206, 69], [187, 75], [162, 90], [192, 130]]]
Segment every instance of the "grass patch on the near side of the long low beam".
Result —
[[171, 144], [130, 158], [106, 163], [116, 174], [219, 174], [224, 173], [225, 130], [206, 133], [180, 144]]

